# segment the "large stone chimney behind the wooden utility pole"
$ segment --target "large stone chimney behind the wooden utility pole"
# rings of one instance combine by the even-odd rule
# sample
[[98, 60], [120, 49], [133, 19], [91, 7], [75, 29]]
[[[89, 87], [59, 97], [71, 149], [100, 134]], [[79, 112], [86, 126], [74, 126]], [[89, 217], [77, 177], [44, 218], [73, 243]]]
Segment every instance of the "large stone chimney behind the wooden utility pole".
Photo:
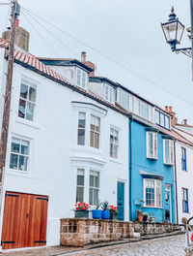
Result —
[[[15, 41], [14, 44], [18, 48], [22, 48], [25, 51], [29, 51], [29, 41], [30, 41], [30, 33], [26, 31], [24, 28], [19, 27], [19, 19], [16, 19], [15, 22]], [[10, 41], [10, 36], [11, 36], [11, 30], [7, 30], [3, 32], [2, 38]]]

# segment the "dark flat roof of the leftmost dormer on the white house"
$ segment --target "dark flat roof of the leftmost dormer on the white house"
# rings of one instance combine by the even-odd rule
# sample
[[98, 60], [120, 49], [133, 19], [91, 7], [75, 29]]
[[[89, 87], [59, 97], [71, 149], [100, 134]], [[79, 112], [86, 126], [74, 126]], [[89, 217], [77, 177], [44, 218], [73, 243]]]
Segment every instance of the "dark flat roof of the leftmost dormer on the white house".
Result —
[[88, 72], [93, 72], [94, 69], [85, 65], [81, 61], [74, 59], [74, 58], [46, 58], [46, 57], [38, 57], [45, 65], [50, 66], [72, 66], [74, 64], [84, 68]]

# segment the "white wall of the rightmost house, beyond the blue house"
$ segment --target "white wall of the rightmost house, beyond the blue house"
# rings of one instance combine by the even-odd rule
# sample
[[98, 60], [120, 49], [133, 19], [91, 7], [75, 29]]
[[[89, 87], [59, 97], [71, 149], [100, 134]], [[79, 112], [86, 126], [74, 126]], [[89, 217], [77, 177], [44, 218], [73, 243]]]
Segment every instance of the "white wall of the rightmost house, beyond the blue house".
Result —
[[[181, 146], [186, 148], [186, 169], [181, 170]], [[176, 143], [176, 159], [177, 159], [177, 188], [178, 188], [178, 212], [179, 223], [181, 218], [190, 218], [193, 216], [193, 148], [177, 141]], [[188, 189], [188, 208], [189, 212], [182, 212], [182, 188]]]

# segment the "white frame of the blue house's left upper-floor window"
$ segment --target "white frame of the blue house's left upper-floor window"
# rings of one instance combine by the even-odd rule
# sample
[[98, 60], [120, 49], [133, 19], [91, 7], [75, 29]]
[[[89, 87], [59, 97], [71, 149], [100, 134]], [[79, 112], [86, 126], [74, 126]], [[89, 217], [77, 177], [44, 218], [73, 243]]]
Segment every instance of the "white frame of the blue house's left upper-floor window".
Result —
[[[152, 134], [152, 155], [151, 155], [151, 148], [149, 144], [149, 135]], [[157, 133], [152, 131], [146, 132], [146, 154], [147, 158], [150, 159], [157, 159]]]

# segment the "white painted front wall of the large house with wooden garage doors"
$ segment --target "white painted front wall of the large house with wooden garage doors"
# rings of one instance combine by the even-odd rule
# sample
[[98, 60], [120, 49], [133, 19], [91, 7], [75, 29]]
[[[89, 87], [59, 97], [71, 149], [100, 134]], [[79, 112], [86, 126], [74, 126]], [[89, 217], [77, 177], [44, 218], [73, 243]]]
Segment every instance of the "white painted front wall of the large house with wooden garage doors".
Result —
[[[38, 83], [35, 122], [17, 116], [22, 76]], [[91, 103], [95, 105], [92, 107], [95, 112], [103, 109], [101, 149], [76, 145], [78, 109], [72, 101]], [[120, 129], [121, 151], [118, 160], [109, 158], [110, 125]], [[15, 64], [4, 193], [14, 191], [49, 196], [47, 245], [59, 244], [60, 218], [74, 215], [72, 208], [75, 204], [77, 167], [85, 167], [87, 172], [91, 169], [99, 171], [99, 197], [110, 204], [117, 205], [117, 181], [125, 182], [124, 219], [128, 220], [127, 129], [127, 117], [123, 114]], [[13, 135], [31, 142], [29, 174], [9, 169]]]

